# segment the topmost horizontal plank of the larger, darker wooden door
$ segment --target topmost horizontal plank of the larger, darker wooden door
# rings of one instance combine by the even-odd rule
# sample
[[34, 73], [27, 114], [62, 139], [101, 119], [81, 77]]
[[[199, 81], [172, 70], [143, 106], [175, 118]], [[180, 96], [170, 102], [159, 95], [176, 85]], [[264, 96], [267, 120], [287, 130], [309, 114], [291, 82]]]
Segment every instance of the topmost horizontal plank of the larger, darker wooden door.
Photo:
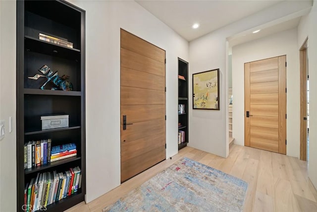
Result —
[[157, 46], [137, 37], [131, 36], [132, 34], [121, 30], [121, 47], [128, 49], [140, 55], [152, 58], [161, 63], [165, 61], [165, 51]]

